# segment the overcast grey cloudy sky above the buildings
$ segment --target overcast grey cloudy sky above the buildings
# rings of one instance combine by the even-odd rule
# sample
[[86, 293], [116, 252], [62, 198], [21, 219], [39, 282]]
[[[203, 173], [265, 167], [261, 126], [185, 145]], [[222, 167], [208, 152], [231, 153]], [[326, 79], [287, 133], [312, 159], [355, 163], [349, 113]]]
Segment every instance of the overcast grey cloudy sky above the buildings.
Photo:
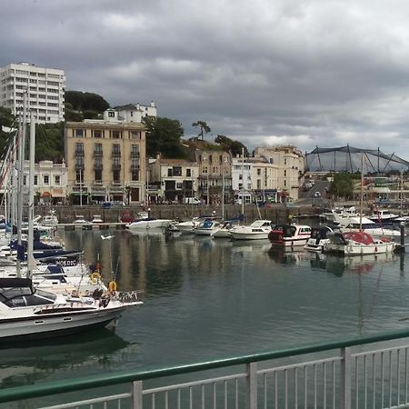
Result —
[[406, 0], [2, 0], [0, 66], [250, 149], [380, 147], [409, 160]]

